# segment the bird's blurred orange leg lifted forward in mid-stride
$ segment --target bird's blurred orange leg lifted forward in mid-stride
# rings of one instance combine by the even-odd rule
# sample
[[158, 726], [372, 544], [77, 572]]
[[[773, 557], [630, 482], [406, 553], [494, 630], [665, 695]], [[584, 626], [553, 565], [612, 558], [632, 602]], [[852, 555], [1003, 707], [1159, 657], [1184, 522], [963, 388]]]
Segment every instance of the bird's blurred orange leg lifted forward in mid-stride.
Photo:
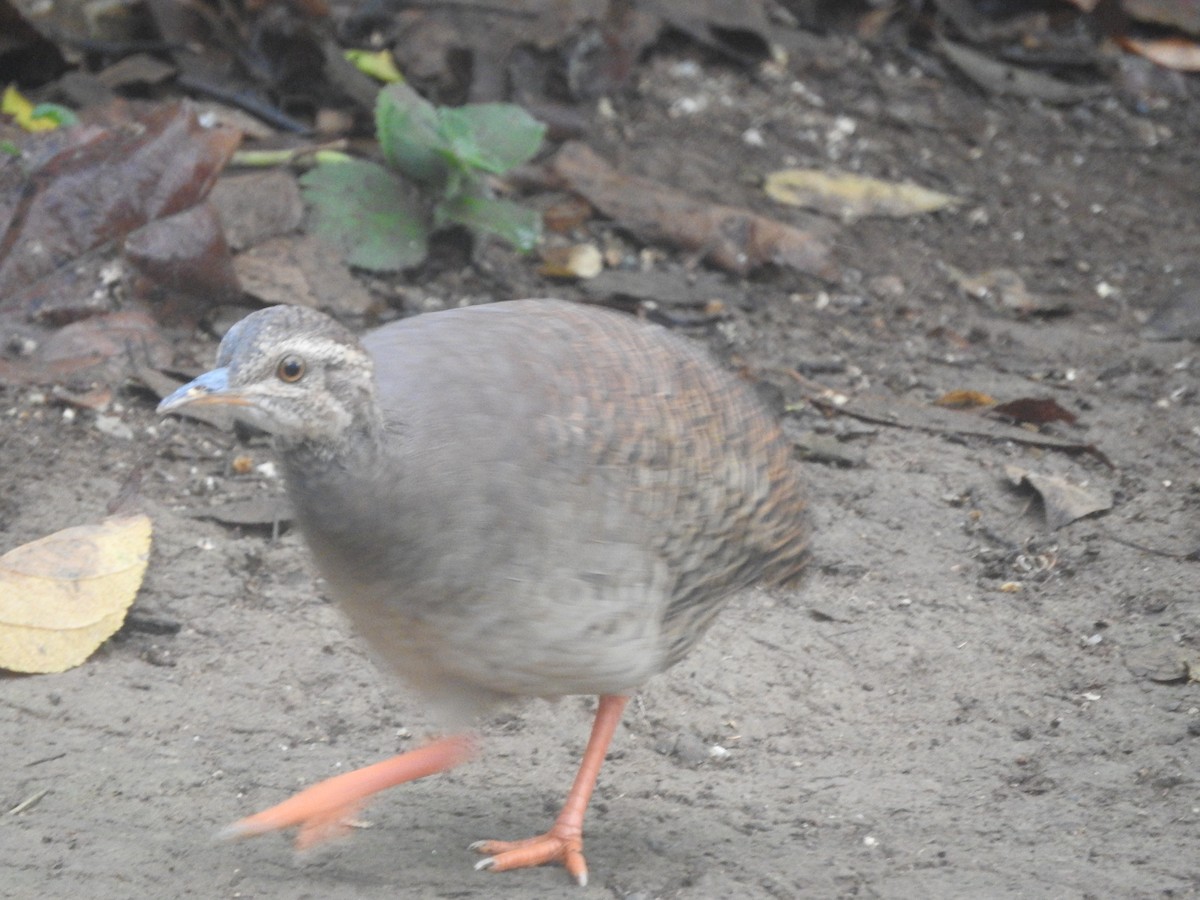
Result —
[[475, 742], [468, 734], [438, 738], [407, 754], [325, 779], [283, 803], [234, 822], [222, 836], [248, 838], [299, 826], [296, 850], [305, 850], [344, 834], [372, 794], [445, 772], [466, 762], [474, 752]]

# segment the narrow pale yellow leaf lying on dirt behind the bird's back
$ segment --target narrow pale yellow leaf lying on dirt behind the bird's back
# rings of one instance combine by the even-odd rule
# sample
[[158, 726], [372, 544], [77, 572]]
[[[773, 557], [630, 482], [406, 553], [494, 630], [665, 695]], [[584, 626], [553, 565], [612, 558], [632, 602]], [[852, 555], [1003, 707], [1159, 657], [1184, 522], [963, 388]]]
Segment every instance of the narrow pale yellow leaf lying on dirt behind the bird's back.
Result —
[[901, 218], [936, 212], [960, 203], [958, 197], [908, 181], [881, 181], [820, 169], [780, 169], [763, 182], [767, 196], [788, 206], [804, 206], [853, 222], [864, 216]]

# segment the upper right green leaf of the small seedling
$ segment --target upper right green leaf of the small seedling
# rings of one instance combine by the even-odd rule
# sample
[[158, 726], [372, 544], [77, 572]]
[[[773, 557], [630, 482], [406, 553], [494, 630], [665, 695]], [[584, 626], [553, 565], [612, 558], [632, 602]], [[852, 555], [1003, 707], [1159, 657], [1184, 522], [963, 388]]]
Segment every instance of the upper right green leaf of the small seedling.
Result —
[[462, 168], [502, 174], [528, 162], [546, 126], [512, 103], [469, 103], [438, 110], [445, 152]]

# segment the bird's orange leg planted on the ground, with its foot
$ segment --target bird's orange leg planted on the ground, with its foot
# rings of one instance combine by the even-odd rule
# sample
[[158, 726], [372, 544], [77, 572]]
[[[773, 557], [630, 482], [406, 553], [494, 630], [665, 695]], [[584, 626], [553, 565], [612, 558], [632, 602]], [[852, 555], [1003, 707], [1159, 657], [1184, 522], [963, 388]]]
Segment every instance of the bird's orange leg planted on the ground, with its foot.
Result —
[[583, 859], [583, 814], [587, 811], [592, 791], [595, 790], [600, 767], [608, 752], [608, 744], [620, 724], [620, 714], [629, 697], [605, 695], [600, 697], [595, 721], [592, 724], [592, 737], [583, 751], [583, 762], [566, 794], [563, 811], [558, 814], [550, 830], [538, 838], [522, 841], [479, 841], [472, 844], [472, 850], [487, 853], [487, 859], [480, 859], [476, 869], [490, 869], [503, 872], [508, 869], [522, 869], [545, 863], [562, 863], [576, 883], [588, 883], [588, 864]]

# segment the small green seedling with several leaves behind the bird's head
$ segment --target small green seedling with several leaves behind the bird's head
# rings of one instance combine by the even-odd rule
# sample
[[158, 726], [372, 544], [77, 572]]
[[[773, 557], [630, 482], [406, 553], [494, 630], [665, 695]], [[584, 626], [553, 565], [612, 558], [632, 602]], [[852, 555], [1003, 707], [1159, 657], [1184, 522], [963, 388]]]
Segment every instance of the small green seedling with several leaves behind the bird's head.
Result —
[[352, 265], [416, 265], [428, 235], [451, 224], [498, 235], [521, 251], [536, 246], [538, 214], [496, 197], [488, 185], [541, 146], [546, 127], [521, 107], [436, 107], [407, 84], [391, 84], [376, 102], [376, 132], [385, 166], [325, 155], [300, 179], [314, 230]]

